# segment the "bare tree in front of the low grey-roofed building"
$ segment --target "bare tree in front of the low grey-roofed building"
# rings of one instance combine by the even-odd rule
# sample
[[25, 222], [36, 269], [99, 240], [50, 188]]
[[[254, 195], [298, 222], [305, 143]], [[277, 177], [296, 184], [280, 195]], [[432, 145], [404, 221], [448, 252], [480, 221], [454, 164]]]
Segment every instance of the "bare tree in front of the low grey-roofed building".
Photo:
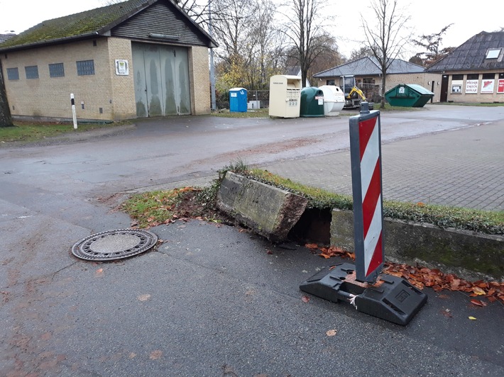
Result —
[[410, 17], [398, 8], [398, 0], [372, 0], [371, 9], [375, 23], [368, 23], [361, 16], [361, 22], [366, 34], [366, 42], [373, 56], [378, 60], [381, 70], [381, 103], [385, 107], [385, 84], [387, 70], [410, 41], [407, 22]]

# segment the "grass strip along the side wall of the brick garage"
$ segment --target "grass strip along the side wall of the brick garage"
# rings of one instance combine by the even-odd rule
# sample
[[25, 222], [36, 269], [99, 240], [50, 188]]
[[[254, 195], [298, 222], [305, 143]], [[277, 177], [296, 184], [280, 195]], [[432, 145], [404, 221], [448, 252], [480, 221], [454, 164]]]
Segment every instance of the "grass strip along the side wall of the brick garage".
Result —
[[89, 130], [111, 128], [124, 123], [80, 123], [74, 130], [70, 123], [14, 123], [14, 127], [0, 128], [0, 143], [37, 142], [64, 134], [85, 133]]

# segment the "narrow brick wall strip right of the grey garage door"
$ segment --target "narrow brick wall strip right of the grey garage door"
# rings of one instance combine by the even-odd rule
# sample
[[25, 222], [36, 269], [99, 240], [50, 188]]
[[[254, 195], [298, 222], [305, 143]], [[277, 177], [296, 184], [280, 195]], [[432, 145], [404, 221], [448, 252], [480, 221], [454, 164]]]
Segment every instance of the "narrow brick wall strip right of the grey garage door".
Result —
[[190, 47], [189, 80], [191, 112], [193, 115], [210, 113], [210, 72], [207, 47]]

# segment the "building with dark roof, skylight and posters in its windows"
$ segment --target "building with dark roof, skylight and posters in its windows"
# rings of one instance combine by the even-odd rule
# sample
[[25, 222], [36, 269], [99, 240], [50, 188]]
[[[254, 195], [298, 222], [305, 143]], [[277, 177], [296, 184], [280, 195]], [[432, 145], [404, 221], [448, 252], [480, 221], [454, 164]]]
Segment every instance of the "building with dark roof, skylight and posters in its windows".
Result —
[[427, 72], [442, 75], [441, 102], [504, 102], [504, 32], [474, 35]]

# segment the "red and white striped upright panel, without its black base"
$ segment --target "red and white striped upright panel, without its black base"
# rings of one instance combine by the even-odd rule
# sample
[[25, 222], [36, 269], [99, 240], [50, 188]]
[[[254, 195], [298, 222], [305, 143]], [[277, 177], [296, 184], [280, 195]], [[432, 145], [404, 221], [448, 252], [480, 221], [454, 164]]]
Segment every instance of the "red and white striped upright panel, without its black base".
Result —
[[362, 103], [350, 118], [350, 156], [354, 194], [356, 279], [375, 282], [385, 259], [381, 184], [380, 111]]

